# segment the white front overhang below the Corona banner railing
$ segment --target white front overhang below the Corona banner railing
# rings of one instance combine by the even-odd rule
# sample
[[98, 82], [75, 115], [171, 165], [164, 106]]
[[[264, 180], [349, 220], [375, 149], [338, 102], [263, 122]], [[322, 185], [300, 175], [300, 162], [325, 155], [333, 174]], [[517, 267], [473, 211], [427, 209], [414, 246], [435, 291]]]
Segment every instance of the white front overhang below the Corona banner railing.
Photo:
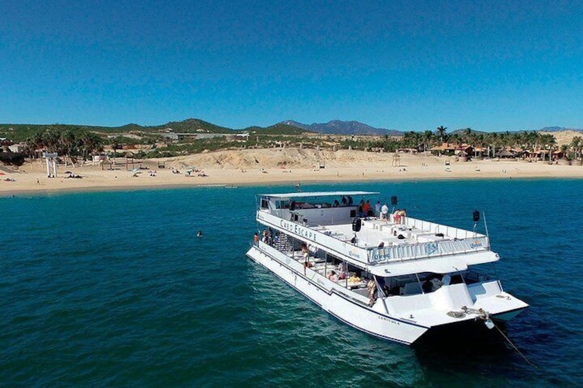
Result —
[[423, 260], [407, 260], [369, 266], [369, 271], [377, 276], [399, 276], [410, 273], [450, 273], [465, 271], [467, 266], [496, 262], [500, 259], [492, 251], [467, 253], [465, 255], [451, 255], [447, 258], [430, 258]]

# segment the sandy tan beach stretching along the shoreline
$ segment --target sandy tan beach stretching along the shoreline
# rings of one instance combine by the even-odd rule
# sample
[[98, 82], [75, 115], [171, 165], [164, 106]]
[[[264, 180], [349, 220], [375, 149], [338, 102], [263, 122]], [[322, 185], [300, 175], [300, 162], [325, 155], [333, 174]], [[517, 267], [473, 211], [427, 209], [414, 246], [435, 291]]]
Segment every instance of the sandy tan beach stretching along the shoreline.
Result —
[[[10, 166], [2, 167], [0, 195], [203, 185], [296, 185], [333, 181], [583, 178], [583, 166], [549, 165], [548, 161], [456, 161], [454, 157], [399, 154], [400, 166], [393, 166], [393, 155], [358, 150], [333, 152], [297, 148], [228, 150], [146, 159], [127, 167], [125, 159], [118, 158], [111, 169], [92, 164], [61, 164], [58, 165], [56, 178], [47, 178], [45, 164], [37, 159], [27, 161], [18, 170]], [[159, 162], [164, 162], [164, 168], [159, 168]]]

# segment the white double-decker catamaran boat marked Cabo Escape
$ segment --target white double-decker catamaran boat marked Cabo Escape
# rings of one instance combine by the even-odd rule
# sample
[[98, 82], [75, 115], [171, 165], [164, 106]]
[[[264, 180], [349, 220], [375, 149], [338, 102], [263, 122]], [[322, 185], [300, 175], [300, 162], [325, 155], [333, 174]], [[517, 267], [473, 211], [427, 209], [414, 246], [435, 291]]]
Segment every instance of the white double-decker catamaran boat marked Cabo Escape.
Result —
[[260, 194], [256, 220], [264, 229], [247, 255], [340, 321], [399, 343], [469, 321], [493, 328], [528, 307], [476, 270], [499, 260], [487, 232], [476, 232], [479, 212], [468, 231], [386, 204], [374, 214], [366, 201], [378, 195]]

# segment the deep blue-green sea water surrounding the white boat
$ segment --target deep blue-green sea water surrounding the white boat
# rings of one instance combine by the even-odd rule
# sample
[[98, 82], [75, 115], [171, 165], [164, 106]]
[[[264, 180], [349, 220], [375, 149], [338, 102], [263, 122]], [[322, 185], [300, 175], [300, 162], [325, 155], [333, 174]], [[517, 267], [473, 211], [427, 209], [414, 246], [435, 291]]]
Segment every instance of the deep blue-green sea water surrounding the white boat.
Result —
[[583, 386], [583, 180], [304, 185], [396, 195], [410, 216], [465, 229], [481, 210], [496, 274], [530, 304], [505, 332], [537, 367], [496, 335], [376, 339], [246, 258], [255, 194], [293, 190], [0, 198], [0, 385]]

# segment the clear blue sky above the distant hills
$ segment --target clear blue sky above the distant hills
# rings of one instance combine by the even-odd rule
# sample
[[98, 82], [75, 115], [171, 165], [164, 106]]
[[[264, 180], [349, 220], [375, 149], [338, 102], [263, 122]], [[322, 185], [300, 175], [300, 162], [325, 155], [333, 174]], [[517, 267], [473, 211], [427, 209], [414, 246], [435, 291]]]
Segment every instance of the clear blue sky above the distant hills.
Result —
[[0, 0], [0, 122], [583, 128], [583, 2], [475, 3]]

